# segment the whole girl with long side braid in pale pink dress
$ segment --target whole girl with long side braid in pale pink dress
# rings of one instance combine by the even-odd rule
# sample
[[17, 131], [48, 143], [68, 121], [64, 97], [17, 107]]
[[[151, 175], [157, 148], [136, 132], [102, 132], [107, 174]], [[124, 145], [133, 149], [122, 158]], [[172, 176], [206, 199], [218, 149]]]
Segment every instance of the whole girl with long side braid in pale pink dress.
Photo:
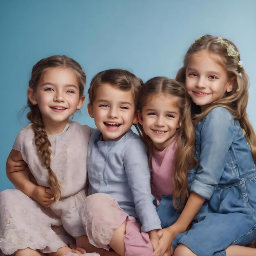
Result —
[[[85, 73], [67, 56], [34, 65], [27, 90], [30, 123], [7, 159], [17, 189], [0, 193], [0, 249], [4, 254], [64, 256], [73, 238], [85, 235], [79, 210], [85, 199], [90, 128], [69, 121], [85, 101]], [[35, 183], [28, 177], [24, 160]]]

